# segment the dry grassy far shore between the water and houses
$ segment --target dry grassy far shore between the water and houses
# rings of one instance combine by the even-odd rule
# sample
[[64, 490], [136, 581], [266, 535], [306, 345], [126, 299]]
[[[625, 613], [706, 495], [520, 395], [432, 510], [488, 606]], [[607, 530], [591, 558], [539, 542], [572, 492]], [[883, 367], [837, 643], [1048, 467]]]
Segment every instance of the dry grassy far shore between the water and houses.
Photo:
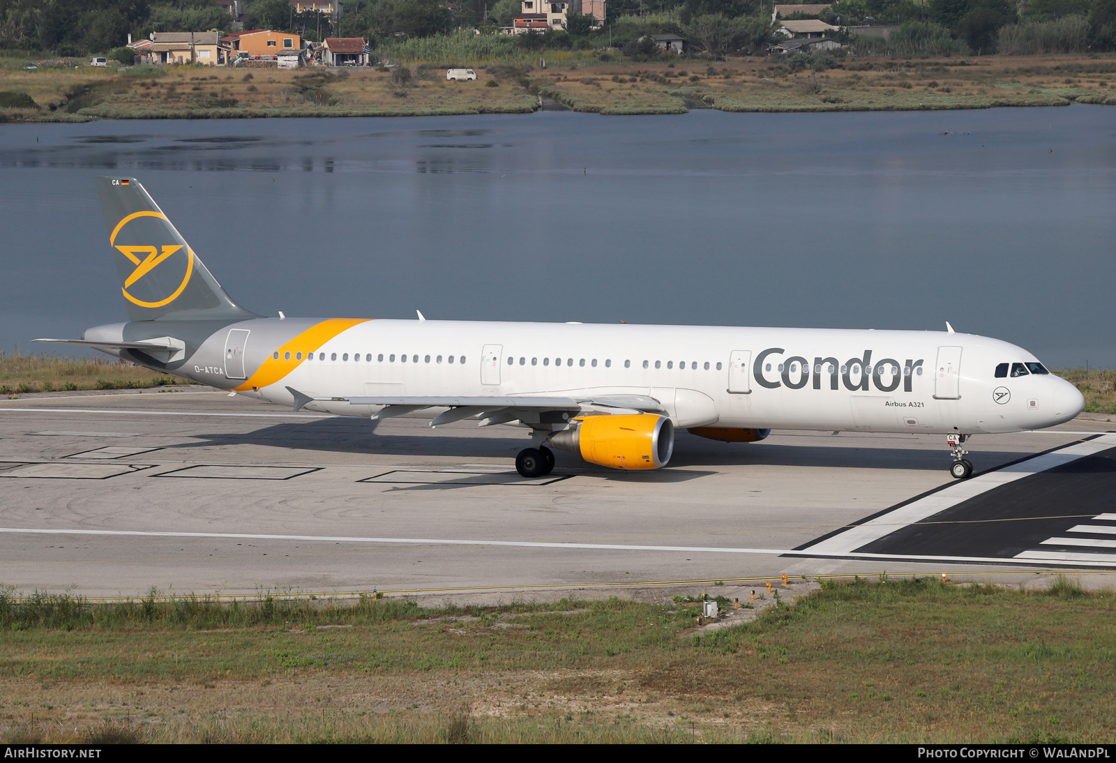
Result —
[[[605, 115], [1116, 105], [1110, 55], [862, 56], [814, 71], [792, 70], [793, 59], [778, 57], [603, 62], [591, 51], [522, 55], [504, 51], [507, 45], [484, 36], [400, 42], [387, 52], [421, 74], [407, 85], [372, 69], [0, 67], [0, 91], [38, 105], [0, 108], [0, 120], [516, 114], [533, 110], [538, 94]], [[547, 68], [538, 68], [539, 58]], [[427, 68], [419, 69], [421, 61]], [[429, 68], [450, 64], [477, 68], [479, 80], [448, 83], [441, 68]]]

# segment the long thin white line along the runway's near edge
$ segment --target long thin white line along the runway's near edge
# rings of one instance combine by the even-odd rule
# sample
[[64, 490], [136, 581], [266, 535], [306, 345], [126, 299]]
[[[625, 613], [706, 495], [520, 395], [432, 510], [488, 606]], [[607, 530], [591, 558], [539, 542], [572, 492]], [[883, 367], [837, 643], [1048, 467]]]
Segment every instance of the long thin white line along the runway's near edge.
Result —
[[[1023, 561], [1027, 553], [1042, 553], [1038, 551], [1024, 552], [1016, 557], [1019, 561], [1002, 557], [935, 557], [926, 554], [889, 554], [889, 553], [815, 553], [814, 551], [795, 551], [792, 549], [737, 549], [725, 547], [696, 547], [696, 545], [625, 545], [620, 543], [565, 543], [559, 541], [499, 541], [499, 540], [465, 540], [449, 538], [356, 538], [348, 535], [271, 535], [242, 532], [160, 532], [151, 530], [78, 530], [78, 529], [47, 529], [47, 528], [0, 528], [0, 533], [26, 533], [33, 535], [128, 535], [141, 538], [227, 538], [233, 540], [273, 540], [273, 541], [319, 541], [329, 543], [393, 543], [406, 545], [501, 545], [528, 549], [585, 549], [593, 551], [676, 551], [680, 553], [757, 553], [767, 556], [789, 556], [789, 557], [822, 557], [833, 559], [863, 559], [863, 560], [906, 560], [906, 561], [934, 561], [954, 562], [962, 564], [972, 563], [995, 563], [995, 564], [1027, 564], [1029, 567], [1046, 567], [1036, 562]], [[1090, 567], [1113, 567], [1116, 564], [1116, 556], [1103, 554], [1051, 554], [1052, 561], [1065, 563], [1064, 557], [1083, 557], [1081, 562], [1087, 562]], [[1035, 559], [1043, 559], [1035, 557]], [[1096, 561], [1100, 560], [1100, 561]], [[1074, 560], [1078, 561], [1078, 560]]]

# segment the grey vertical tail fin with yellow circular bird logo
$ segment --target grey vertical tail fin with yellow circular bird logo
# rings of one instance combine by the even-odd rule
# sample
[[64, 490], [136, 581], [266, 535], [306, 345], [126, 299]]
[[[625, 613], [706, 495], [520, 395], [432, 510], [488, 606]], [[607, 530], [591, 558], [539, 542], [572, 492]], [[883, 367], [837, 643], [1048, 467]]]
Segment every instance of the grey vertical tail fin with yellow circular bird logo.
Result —
[[132, 320], [258, 318], [232, 300], [134, 177], [98, 177], [97, 193]]

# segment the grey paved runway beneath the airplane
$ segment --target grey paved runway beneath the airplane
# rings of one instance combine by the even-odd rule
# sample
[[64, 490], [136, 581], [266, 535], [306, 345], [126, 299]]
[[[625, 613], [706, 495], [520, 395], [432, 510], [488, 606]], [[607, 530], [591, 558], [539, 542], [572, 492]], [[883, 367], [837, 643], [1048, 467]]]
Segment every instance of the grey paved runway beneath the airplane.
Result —
[[93, 597], [506, 590], [779, 574], [1116, 569], [1116, 429], [681, 433], [657, 472], [523, 432], [378, 425], [199, 388], [0, 402], [0, 583]]

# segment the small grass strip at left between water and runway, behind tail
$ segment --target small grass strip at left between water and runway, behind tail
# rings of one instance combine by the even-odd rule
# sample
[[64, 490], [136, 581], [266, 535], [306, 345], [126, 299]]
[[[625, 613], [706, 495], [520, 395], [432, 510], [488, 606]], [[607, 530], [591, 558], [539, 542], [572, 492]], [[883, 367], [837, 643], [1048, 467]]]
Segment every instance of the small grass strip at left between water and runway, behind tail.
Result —
[[110, 357], [0, 352], [0, 395], [75, 389], [141, 389], [195, 384]]

